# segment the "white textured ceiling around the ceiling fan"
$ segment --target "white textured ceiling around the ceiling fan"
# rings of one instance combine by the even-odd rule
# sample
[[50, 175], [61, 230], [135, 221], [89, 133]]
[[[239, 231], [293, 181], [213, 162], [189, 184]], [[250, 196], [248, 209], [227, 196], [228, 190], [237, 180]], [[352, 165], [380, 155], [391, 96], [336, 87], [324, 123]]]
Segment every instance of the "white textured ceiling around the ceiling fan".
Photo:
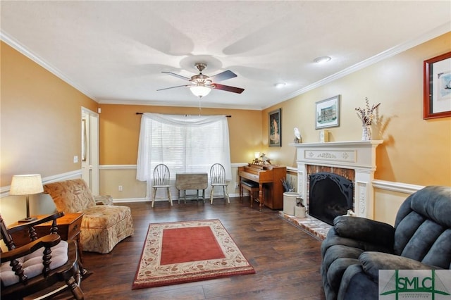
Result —
[[[451, 30], [451, 1], [1, 1], [1, 39], [99, 103], [262, 109]], [[314, 63], [330, 56], [326, 64]], [[426, 59], [426, 58], [425, 58]], [[276, 88], [278, 82], [285, 83]]]

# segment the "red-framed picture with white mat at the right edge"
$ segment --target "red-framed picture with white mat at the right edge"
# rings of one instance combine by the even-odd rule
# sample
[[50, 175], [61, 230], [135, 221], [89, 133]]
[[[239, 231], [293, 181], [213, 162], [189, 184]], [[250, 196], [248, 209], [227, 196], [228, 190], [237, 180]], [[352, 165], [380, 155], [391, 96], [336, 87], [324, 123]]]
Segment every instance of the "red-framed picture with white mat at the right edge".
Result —
[[423, 118], [451, 116], [451, 52], [424, 61]]

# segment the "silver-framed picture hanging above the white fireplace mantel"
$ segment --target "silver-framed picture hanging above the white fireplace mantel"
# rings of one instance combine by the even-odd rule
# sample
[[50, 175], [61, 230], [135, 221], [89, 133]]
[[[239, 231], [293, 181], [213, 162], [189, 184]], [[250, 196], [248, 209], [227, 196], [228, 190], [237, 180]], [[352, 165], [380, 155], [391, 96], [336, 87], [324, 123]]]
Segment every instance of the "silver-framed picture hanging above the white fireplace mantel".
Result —
[[316, 102], [315, 129], [340, 126], [340, 95]]

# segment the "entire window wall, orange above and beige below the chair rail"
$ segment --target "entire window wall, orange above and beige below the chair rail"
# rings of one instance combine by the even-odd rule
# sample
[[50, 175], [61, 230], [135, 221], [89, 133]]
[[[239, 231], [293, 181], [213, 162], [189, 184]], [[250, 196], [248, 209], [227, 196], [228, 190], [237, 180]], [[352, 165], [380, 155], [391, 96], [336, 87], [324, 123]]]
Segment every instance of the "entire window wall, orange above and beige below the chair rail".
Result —
[[[146, 182], [136, 180], [137, 146], [141, 115], [136, 113], [199, 114], [197, 107], [165, 107], [101, 104], [100, 114], [100, 191], [115, 201], [140, 201], [147, 195]], [[231, 115], [228, 118], [232, 163], [252, 161], [261, 149], [261, 111], [202, 108], [203, 115]], [[202, 145], [199, 145], [202, 146]], [[106, 168], [105, 166], [108, 166]], [[125, 165], [125, 166], [124, 166]], [[131, 165], [131, 166], [130, 166]], [[235, 189], [236, 169], [228, 187]], [[118, 190], [118, 186], [122, 190]], [[158, 196], [158, 195], [157, 195]]]

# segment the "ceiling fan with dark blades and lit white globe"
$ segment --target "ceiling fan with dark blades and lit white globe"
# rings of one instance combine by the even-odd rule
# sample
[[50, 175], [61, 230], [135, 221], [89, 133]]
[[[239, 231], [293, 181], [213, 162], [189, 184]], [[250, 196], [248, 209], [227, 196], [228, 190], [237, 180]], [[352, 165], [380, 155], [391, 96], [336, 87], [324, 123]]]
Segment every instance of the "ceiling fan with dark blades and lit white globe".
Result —
[[[241, 94], [245, 90], [240, 87], [230, 87], [229, 85], [220, 85], [216, 83], [217, 81], [237, 77], [237, 75], [230, 70], [226, 70], [222, 73], [213, 76], [207, 76], [202, 74], [202, 70], [206, 68], [206, 63], [194, 63], [194, 67], [196, 67], [197, 70], [199, 70], [199, 74], [193, 75], [191, 76], [191, 78], [178, 75], [172, 72], [163, 71], [161, 73], [167, 73], [169, 75], [182, 78], [183, 80], [190, 81], [191, 82], [190, 85], [178, 85], [175, 87], [190, 87], [192, 94], [194, 94], [194, 96], [198, 96], [199, 98], [208, 95], [209, 92], [211, 92], [211, 89], [221, 89], [226, 92], [233, 92], [237, 94]], [[164, 89], [174, 89], [175, 87], [166, 87]], [[157, 89], [157, 91], [163, 91], [164, 89]]]

